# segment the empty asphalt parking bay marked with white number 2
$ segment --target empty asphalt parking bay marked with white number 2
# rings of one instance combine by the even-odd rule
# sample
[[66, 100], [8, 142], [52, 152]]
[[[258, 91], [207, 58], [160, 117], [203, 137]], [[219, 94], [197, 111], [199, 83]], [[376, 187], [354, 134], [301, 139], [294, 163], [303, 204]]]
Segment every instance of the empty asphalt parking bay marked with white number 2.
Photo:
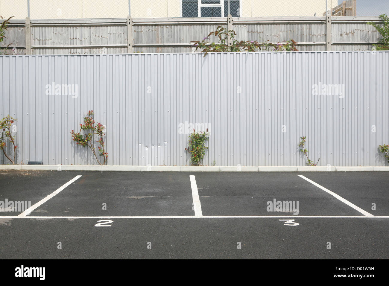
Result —
[[189, 175], [77, 172], [82, 177], [31, 216], [193, 216]]

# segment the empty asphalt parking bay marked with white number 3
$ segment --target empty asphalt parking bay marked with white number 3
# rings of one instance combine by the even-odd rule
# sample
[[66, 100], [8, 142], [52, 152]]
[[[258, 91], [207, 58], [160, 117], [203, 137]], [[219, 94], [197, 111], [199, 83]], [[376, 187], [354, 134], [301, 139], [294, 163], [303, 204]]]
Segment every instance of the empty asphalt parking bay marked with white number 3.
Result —
[[[360, 212], [301, 179], [297, 173], [221, 173], [196, 176], [205, 216], [350, 215]], [[301, 173], [299, 173], [301, 174]], [[310, 174], [307, 174], [309, 177]], [[268, 202], [271, 202], [268, 203]], [[275, 203], [274, 203], [275, 202]], [[298, 212], [277, 209], [292, 202]]]

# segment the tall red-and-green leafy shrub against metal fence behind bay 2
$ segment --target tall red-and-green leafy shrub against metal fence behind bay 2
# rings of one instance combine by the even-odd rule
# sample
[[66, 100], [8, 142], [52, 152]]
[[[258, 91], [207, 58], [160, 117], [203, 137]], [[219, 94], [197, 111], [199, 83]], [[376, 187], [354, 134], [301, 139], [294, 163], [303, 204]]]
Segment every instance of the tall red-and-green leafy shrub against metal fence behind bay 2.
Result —
[[[93, 119], [93, 110], [89, 110], [87, 113], [87, 116], [84, 117], [84, 124], [80, 123], [80, 132], [75, 133], [74, 130], [70, 132], [72, 134], [72, 139], [75, 141], [78, 145], [81, 145], [82, 147], [88, 146], [93, 154], [95, 155], [97, 163], [100, 165], [106, 165], [108, 161], [108, 153], [105, 152], [105, 142], [103, 140], [103, 136], [105, 133], [103, 133], [103, 130], [105, 129], [104, 126], [98, 122], [97, 125], [95, 125], [95, 120]], [[84, 133], [81, 134], [81, 130], [84, 130]], [[95, 141], [95, 135], [98, 137], [98, 154], [103, 157], [103, 163], [101, 163], [96, 154], [96, 148], [94, 146]]]

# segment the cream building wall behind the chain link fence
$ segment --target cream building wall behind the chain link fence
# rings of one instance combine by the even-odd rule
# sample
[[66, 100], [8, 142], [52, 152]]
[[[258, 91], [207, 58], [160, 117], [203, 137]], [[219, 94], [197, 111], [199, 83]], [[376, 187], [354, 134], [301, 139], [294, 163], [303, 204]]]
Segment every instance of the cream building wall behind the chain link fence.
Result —
[[[328, 1], [330, 7], [331, 0]], [[332, 2], [337, 5], [336, 0]], [[322, 16], [325, 9], [326, 0], [240, 0], [242, 17], [314, 16], [315, 13]], [[27, 0], [0, 0], [0, 15], [25, 19]], [[128, 0], [30, 0], [31, 19], [126, 18], [127, 15]], [[182, 0], [131, 0], [131, 16], [181, 17]]]

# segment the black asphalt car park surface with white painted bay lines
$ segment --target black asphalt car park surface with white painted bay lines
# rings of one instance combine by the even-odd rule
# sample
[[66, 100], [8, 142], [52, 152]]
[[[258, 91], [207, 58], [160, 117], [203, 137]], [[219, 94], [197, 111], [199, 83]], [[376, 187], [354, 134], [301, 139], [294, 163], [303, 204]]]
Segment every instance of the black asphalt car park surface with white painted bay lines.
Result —
[[[110, 227], [96, 227], [97, 218], [1, 218], [20, 212], [0, 212], [3, 259], [389, 258], [389, 218], [301, 218], [266, 211], [266, 202], [276, 199], [298, 201], [299, 216], [362, 216], [298, 177], [304, 175], [375, 216], [389, 216], [386, 172], [2, 170], [0, 201], [35, 204], [76, 175], [82, 177], [30, 216], [187, 218], [112, 218]], [[283, 218], [193, 218], [189, 175], [195, 175], [203, 216], [285, 215], [299, 225], [286, 226]]]

